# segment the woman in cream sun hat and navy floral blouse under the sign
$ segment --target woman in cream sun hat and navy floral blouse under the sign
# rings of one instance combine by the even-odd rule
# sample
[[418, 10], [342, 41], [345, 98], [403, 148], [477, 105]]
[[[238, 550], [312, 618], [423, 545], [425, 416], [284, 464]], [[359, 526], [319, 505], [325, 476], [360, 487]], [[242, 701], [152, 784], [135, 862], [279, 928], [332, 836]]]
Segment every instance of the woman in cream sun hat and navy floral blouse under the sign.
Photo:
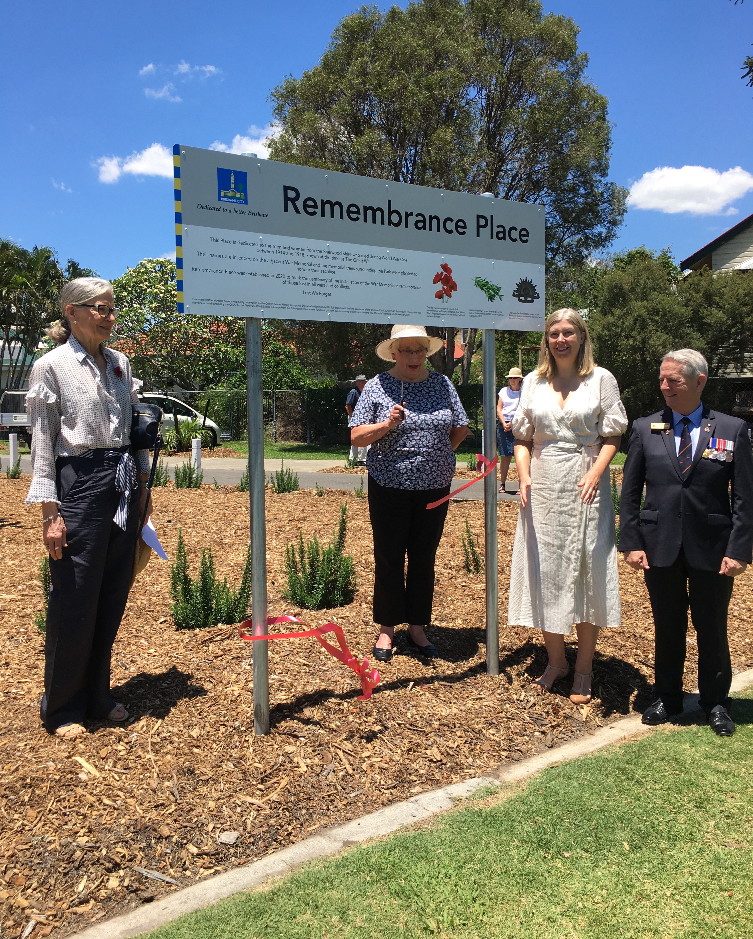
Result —
[[[423, 326], [393, 326], [376, 355], [389, 372], [367, 381], [350, 418], [354, 447], [366, 457], [369, 517], [374, 533], [374, 647], [379, 662], [392, 658], [394, 627], [407, 623], [407, 642], [423, 658], [438, 651], [423, 628], [431, 623], [434, 563], [447, 516], [454, 451], [469, 423], [449, 378], [424, 367], [442, 347]], [[407, 555], [407, 573], [406, 573]]]

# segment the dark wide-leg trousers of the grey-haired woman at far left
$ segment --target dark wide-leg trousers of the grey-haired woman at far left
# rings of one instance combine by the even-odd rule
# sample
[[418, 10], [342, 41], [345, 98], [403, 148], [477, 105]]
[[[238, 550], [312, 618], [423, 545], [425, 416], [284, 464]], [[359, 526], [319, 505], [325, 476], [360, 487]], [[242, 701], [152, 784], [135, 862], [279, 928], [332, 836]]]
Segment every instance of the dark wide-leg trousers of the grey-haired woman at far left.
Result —
[[44, 697], [40, 716], [48, 731], [85, 717], [105, 717], [115, 707], [110, 693], [110, 654], [126, 608], [139, 490], [131, 493], [126, 531], [113, 516], [117, 457], [58, 457], [55, 469], [68, 547], [50, 559], [52, 591], [44, 644]]

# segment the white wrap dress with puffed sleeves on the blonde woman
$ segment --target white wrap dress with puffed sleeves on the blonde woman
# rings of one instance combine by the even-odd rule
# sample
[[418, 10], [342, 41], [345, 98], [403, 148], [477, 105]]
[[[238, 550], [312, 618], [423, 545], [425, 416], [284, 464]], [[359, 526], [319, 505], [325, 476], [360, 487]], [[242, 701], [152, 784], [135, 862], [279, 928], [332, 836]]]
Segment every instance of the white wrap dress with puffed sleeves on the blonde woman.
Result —
[[508, 625], [569, 635], [574, 623], [619, 626], [620, 585], [609, 473], [591, 505], [577, 484], [605, 437], [627, 429], [615, 377], [596, 366], [561, 408], [546, 377], [523, 381], [515, 439], [532, 440], [530, 496], [515, 530]]

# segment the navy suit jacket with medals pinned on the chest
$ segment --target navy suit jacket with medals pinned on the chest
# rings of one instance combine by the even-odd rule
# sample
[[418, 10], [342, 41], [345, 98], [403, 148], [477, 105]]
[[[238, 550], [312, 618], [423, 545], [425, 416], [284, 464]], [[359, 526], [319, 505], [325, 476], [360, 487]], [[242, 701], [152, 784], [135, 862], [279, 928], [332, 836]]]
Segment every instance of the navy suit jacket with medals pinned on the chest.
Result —
[[[668, 423], [669, 430], [652, 430], [652, 423]], [[712, 437], [734, 441], [730, 463], [703, 458]], [[675, 453], [671, 408], [633, 423], [622, 474], [620, 550], [645, 551], [651, 567], [669, 567], [681, 547], [690, 567], [704, 571], [718, 571], [724, 557], [753, 560], [753, 451], [747, 424], [706, 405], [685, 478]]]

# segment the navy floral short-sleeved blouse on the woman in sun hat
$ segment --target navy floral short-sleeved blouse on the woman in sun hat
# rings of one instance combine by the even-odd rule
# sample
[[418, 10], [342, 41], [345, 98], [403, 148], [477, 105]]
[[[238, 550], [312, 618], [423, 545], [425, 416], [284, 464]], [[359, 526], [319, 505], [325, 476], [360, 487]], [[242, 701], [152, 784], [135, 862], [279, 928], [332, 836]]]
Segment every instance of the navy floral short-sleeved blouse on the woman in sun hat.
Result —
[[453, 383], [438, 372], [423, 381], [394, 378], [388, 372], [367, 381], [349, 426], [387, 421], [400, 404], [401, 386], [406, 420], [371, 445], [366, 469], [380, 485], [395, 489], [440, 489], [450, 485], [455, 454], [450, 430], [469, 423]]

